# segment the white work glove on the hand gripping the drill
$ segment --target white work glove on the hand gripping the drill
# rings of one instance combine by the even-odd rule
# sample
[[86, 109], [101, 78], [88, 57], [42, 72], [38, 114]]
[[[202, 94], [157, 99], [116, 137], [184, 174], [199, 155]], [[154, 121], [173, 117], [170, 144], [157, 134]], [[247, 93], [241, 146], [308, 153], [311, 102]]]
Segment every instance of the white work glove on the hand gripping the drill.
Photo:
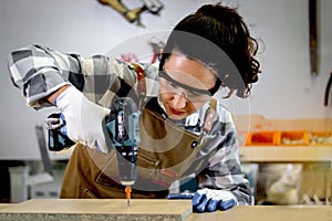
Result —
[[108, 152], [104, 135], [107, 131], [103, 128], [110, 109], [89, 101], [74, 86], [70, 86], [56, 97], [55, 106], [65, 118], [69, 138], [102, 152]]

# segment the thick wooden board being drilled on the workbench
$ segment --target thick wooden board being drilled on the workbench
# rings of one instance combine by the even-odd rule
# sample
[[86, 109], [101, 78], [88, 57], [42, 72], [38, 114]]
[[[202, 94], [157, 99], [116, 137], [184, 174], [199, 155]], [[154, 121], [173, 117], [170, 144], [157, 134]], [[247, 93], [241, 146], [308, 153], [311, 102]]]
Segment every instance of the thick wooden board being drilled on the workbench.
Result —
[[33, 199], [0, 210], [0, 220], [167, 220], [183, 221], [191, 214], [190, 200]]

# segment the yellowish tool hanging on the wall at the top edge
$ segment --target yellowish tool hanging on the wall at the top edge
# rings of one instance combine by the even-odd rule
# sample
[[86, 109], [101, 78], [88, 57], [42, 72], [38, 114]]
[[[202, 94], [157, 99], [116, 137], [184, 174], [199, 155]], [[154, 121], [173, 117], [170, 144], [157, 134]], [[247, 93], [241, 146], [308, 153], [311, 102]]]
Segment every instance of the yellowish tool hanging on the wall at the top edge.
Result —
[[121, 0], [98, 0], [103, 4], [108, 4], [118, 13], [121, 13], [128, 22], [138, 27], [144, 27], [141, 23], [141, 13], [148, 11], [153, 14], [159, 14], [159, 11], [164, 8], [164, 4], [159, 0], [142, 0], [143, 6], [133, 10], [129, 10]]

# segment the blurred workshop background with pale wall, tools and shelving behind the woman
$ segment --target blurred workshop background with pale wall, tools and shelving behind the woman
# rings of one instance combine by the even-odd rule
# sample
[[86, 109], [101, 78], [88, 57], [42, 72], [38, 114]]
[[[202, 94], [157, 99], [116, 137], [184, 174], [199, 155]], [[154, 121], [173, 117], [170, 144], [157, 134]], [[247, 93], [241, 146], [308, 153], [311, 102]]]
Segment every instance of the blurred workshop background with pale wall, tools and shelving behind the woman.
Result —
[[[148, 1], [122, 2], [139, 9]], [[43, 122], [54, 109], [27, 107], [9, 77], [10, 51], [38, 43], [86, 56], [157, 62], [154, 55], [167, 31], [201, 4], [218, 1], [159, 2], [159, 9], [144, 6], [124, 18], [98, 0], [0, 1], [0, 202], [58, 198], [70, 156], [46, 150]], [[225, 101], [238, 127], [256, 203], [331, 203], [332, 1], [222, 2], [238, 8], [260, 44], [262, 74], [252, 95]]]

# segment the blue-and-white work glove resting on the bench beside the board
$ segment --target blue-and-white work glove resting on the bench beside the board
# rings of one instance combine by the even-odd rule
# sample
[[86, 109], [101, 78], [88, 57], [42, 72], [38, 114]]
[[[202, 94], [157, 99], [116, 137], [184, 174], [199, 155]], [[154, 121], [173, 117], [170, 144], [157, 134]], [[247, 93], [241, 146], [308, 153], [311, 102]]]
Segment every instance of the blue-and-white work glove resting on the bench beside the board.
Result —
[[227, 190], [204, 188], [197, 190], [193, 197], [193, 207], [197, 212], [228, 210], [236, 204], [238, 204], [238, 200]]

